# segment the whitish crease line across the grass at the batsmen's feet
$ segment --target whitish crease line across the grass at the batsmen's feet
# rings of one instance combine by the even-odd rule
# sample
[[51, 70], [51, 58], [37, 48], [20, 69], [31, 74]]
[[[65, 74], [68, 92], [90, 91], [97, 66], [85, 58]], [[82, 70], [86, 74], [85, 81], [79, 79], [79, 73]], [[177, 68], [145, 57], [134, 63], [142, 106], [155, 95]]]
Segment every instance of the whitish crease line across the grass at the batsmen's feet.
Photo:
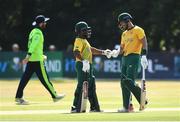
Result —
[[[148, 108], [144, 112], [151, 111], [180, 111], [180, 108]], [[115, 109], [104, 110], [106, 112], [117, 112]], [[139, 112], [136, 110], [135, 112]], [[70, 110], [20, 110], [20, 111], [0, 111], [0, 115], [24, 115], [24, 114], [63, 114], [70, 113]]]

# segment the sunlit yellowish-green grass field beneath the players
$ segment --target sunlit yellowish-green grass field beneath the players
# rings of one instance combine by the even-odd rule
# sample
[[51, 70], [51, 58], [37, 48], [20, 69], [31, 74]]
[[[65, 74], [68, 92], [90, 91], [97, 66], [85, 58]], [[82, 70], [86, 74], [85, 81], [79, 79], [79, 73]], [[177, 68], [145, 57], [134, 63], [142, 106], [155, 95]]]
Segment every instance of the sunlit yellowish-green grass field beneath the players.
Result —
[[18, 83], [18, 80], [0, 80], [0, 121], [180, 121], [180, 82], [177, 81], [148, 81], [147, 109], [139, 112], [133, 98], [134, 113], [117, 113], [122, 107], [119, 81], [97, 80], [97, 94], [104, 112], [79, 114], [70, 113], [76, 81], [54, 81], [57, 92], [66, 93], [66, 97], [53, 103], [41, 83], [31, 80], [24, 91], [30, 105], [15, 104]]

